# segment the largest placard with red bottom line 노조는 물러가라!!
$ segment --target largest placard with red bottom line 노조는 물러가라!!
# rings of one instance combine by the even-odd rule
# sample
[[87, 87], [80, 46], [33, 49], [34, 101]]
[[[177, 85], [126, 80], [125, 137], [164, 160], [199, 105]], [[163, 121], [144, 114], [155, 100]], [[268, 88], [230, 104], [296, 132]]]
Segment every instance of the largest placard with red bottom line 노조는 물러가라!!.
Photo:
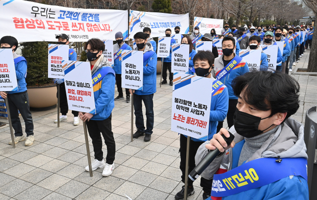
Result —
[[[203, 87], [205, 86], [205, 87]], [[207, 141], [212, 79], [174, 74], [171, 130]]]

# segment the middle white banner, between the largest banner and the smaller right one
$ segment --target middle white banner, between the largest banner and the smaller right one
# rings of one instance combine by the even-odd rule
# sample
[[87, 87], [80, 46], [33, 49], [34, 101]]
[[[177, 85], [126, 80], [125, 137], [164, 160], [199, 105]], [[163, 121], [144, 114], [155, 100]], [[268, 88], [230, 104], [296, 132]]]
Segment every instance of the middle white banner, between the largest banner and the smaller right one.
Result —
[[134, 34], [143, 32], [145, 27], [151, 29], [151, 37], [165, 36], [165, 30], [174, 31], [176, 26], [180, 27], [180, 34], [189, 33], [189, 17], [187, 14], [169, 14], [161, 12], [130, 11], [129, 38]]

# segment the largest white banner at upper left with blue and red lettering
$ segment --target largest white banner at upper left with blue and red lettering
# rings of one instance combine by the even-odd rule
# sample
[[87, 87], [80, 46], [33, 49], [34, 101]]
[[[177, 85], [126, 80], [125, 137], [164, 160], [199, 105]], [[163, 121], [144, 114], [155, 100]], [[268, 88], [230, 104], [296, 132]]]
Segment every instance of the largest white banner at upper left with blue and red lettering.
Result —
[[128, 38], [128, 11], [81, 9], [35, 3], [26, 0], [1, 0], [0, 38], [13, 36], [18, 42], [56, 41], [64, 33], [71, 42], [92, 38], [115, 40], [120, 31]]

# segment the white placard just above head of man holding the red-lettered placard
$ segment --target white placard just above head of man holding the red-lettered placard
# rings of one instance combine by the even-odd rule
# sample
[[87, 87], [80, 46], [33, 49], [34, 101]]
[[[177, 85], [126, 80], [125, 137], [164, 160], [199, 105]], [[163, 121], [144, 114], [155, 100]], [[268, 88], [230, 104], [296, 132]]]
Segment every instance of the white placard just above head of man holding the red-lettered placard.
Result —
[[172, 72], [188, 74], [189, 70], [189, 45], [172, 45]]

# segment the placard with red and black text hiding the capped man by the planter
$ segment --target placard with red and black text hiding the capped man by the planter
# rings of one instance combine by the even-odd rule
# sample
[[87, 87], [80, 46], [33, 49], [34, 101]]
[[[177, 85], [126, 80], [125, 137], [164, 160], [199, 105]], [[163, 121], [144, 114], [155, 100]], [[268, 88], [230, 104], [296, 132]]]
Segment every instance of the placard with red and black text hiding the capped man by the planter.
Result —
[[62, 60], [68, 60], [69, 46], [49, 44], [49, 78], [62, 79]]

